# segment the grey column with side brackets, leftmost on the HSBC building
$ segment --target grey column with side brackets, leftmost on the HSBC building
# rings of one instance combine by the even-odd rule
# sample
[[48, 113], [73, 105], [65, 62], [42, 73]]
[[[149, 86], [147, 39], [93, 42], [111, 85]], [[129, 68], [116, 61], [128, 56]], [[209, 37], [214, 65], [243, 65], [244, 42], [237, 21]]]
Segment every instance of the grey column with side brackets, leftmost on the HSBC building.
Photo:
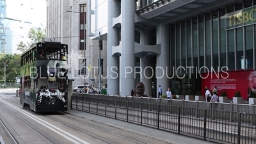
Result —
[[[112, 47], [119, 45], [119, 29], [113, 28], [113, 18], [119, 15], [119, 3], [108, 1], [108, 94], [119, 95], [119, 58], [112, 56]], [[117, 73], [117, 74], [116, 74]]]

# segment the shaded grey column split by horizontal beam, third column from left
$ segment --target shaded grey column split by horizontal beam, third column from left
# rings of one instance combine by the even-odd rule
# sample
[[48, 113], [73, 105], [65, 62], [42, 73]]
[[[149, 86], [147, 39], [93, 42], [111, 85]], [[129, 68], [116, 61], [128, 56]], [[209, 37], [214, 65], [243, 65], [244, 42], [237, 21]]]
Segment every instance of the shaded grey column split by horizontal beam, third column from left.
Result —
[[[150, 45], [150, 33], [148, 31], [141, 31], [140, 33], [140, 44]], [[140, 58], [141, 72], [141, 82], [145, 86], [145, 95], [152, 97], [152, 61], [150, 58], [143, 57]]]

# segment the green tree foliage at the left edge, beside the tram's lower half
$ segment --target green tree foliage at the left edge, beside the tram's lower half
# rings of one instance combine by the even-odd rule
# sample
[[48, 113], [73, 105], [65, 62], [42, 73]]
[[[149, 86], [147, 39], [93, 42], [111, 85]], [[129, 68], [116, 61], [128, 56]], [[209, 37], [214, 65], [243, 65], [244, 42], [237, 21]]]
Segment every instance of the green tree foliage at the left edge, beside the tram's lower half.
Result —
[[20, 54], [0, 54], [0, 81], [4, 81], [4, 62], [6, 82], [15, 82], [15, 77], [20, 77]]

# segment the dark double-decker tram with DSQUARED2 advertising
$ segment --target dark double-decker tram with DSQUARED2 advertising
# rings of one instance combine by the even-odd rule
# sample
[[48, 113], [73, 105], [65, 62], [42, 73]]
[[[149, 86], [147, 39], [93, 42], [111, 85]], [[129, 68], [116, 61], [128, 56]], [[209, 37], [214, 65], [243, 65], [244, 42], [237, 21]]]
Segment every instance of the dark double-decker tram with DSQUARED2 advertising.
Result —
[[36, 112], [67, 111], [68, 45], [44, 38], [22, 53], [20, 104]]

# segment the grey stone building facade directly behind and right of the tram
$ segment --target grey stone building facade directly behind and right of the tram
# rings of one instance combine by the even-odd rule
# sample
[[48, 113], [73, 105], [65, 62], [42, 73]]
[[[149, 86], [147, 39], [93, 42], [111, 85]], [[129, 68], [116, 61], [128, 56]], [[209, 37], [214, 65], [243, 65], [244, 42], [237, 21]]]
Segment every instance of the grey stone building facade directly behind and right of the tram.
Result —
[[[92, 84], [99, 86], [99, 49], [100, 72], [107, 75], [106, 41], [92, 40], [88, 33], [88, 1], [84, 0], [47, 0], [46, 36], [60, 38], [68, 44], [67, 60], [70, 72], [75, 79], [73, 86]], [[84, 19], [85, 17], [85, 19]], [[85, 40], [84, 40], [85, 39]], [[106, 79], [101, 79], [101, 86]]]

